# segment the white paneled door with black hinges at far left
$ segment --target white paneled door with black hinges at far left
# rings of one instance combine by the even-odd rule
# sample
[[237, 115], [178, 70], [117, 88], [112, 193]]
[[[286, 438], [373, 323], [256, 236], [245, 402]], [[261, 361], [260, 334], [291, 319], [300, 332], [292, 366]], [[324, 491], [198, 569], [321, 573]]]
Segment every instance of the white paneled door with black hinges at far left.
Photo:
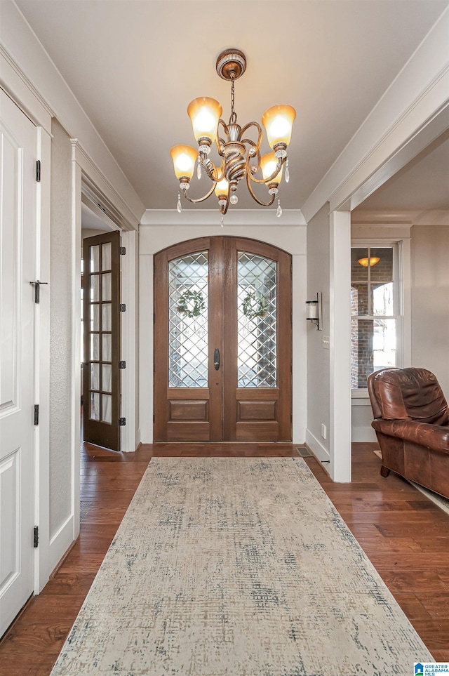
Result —
[[1, 636], [33, 592], [36, 127], [0, 95]]

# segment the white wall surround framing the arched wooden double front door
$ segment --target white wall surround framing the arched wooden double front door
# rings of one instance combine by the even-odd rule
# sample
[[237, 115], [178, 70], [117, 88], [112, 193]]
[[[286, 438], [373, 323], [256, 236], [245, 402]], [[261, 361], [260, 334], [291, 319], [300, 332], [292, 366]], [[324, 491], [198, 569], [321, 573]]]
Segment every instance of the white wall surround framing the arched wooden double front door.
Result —
[[140, 439], [153, 439], [153, 256], [167, 246], [196, 237], [248, 237], [292, 255], [293, 310], [293, 442], [302, 444], [307, 419], [306, 227], [274, 226], [140, 226]]

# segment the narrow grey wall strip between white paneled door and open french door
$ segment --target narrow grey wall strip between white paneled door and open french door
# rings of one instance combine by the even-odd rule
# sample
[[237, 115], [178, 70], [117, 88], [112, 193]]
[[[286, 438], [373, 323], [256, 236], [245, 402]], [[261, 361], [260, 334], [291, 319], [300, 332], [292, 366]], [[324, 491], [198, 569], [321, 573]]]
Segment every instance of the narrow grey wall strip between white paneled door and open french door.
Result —
[[51, 141], [50, 538], [72, 516], [72, 144], [53, 119]]

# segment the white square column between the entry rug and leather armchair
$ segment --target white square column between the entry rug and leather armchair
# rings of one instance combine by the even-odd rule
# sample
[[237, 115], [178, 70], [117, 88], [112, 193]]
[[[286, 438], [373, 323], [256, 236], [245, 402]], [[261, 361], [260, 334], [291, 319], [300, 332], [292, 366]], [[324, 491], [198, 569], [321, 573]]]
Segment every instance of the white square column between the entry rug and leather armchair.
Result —
[[330, 225], [330, 477], [351, 481], [351, 213]]

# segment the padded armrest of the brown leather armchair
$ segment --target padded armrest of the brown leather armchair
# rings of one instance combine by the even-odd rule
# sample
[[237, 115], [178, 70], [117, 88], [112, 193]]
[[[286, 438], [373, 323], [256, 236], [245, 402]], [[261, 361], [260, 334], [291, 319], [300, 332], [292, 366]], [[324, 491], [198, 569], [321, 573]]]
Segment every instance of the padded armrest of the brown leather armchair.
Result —
[[419, 423], [417, 420], [382, 420], [382, 418], [373, 420], [371, 425], [383, 435], [399, 437], [413, 444], [426, 446], [432, 451], [449, 453], [449, 427]]

